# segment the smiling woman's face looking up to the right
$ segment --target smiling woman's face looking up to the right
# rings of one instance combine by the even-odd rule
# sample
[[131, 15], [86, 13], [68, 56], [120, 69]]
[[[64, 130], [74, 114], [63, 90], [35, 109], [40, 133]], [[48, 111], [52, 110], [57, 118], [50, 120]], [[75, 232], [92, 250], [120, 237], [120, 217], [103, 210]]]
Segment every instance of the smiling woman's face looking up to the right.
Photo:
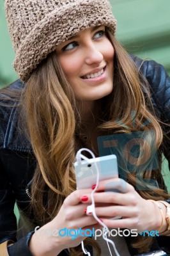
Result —
[[77, 100], [97, 100], [112, 92], [114, 48], [104, 26], [81, 31], [56, 52]]

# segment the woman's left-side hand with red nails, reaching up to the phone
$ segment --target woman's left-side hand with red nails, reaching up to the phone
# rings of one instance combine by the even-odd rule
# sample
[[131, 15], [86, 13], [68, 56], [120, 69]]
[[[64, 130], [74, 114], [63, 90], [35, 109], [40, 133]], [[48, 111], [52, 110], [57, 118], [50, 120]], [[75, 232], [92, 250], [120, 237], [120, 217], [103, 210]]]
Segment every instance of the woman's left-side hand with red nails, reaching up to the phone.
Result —
[[[80, 189], [71, 193], [63, 202], [58, 215], [49, 223], [41, 227], [31, 237], [29, 248], [34, 256], [58, 255], [65, 248], [75, 247], [86, 239], [83, 234], [75, 236], [59, 236], [61, 229], [86, 230], [101, 227], [93, 216], [86, 215], [89, 203], [82, 204], [82, 196], [90, 195], [92, 189]], [[55, 202], [54, 202], [55, 204]], [[62, 232], [63, 234], [63, 232]]]

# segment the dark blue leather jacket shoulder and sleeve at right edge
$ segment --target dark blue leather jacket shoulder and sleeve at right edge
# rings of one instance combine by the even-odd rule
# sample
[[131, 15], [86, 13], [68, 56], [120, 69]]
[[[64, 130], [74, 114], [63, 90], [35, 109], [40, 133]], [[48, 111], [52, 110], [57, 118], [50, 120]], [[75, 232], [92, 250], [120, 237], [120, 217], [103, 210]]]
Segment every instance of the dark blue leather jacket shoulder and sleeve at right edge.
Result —
[[162, 124], [162, 129], [164, 130], [164, 134], [166, 134], [164, 136], [163, 153], [169, 162], [170, 168], [170, 129], [168, 126], [170, 125], [170, 77], [165, 68], [153, 60], [143, 61], [133, 55], [130, 58], [132, 58], [136, 67], [148, 81], [151, 101], [158, 118], [167, 124]]

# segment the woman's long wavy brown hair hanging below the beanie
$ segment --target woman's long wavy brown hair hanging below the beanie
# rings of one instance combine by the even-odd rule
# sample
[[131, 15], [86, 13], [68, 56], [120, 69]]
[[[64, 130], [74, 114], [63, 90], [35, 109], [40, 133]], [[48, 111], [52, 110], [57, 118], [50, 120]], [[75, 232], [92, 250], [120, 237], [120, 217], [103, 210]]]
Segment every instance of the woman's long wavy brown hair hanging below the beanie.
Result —
[[[105, 134], [114, 132], [139, 131], [142, 123], [150, 119], [150, 125], [142, 131], [154, 131], [154, 142], [158, 149], [162, 143], [162, 129], [151, 106], [150, 95], [146, 90], [146, 82], [135, 67], [127, 52], [108, 31], [109, 39], [114, 46], [114, 89], [106, 97], [102, 106], [104, 117], [98, 129]], [[145, 90], [146, 97], [144, 97]], [[147, 98], [147, 100], [146, 100]], [[56, 52], [49, 54], [26, 83], [22, 95], [22, 117], [26, 121], [31, 145], [37, 159], [37, 167], [32, 184], [32, 206], [36, 219], [44, 225], [58, 214], [66, 196], [76, 189], [73, 161], [79, 148], [77, 133], [81, 125], [81, 116], [70, 84], [59, 65]], [[132, 118], [135, 113], [135, 129]], [[118, 122], [121, 120], [121, 122]], [[141, 130], [140, 130], [141, 131]], [[149, 133], [148, 133], [149, 134]], [[154, 141], [153, 141], [154, 140]], [[142, 145], [148, 152], [146, 143]], [[136, 173], [127, 172], [128, 182], [135, 186]], [[160, 173], [160, 172], [159, 172]], [[140, 177], [150, 178], [152, 172], [142, 172]], [[167, 194], [161, 188], [146, 184], [150, 190], [141, 190], [139, 194], [146, 199], [162, 200]], [[133, 245], [139, 252], [147, 251], [150, 239], [138, 239]], [[87, 239], [87, 243], [100, 248], [95, 241]], [[72, 255], [81, 255], [72, 248]]]

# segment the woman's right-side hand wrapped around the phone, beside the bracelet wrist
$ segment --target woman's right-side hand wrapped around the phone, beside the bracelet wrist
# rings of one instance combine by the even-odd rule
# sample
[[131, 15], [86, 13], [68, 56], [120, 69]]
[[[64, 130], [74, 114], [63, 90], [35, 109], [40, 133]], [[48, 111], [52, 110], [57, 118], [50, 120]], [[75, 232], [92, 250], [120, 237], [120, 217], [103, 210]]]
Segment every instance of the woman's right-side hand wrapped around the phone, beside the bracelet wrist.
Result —
[[[116, 192], [115, 191], [116, 189]], [[111, 192], [111, 190], [113, 192]], [[91, 195], [86, 204], [91, 204]], [[134, 187], [122, 179], [100, 181], [94, 193], [95, 211], [98, 218], [102, 219], [109, 228], [158, 230], [161, 225], [160, 210], [157, 205], [142, 198]], [[120, 220], [111, 220], [121, 216]]]

